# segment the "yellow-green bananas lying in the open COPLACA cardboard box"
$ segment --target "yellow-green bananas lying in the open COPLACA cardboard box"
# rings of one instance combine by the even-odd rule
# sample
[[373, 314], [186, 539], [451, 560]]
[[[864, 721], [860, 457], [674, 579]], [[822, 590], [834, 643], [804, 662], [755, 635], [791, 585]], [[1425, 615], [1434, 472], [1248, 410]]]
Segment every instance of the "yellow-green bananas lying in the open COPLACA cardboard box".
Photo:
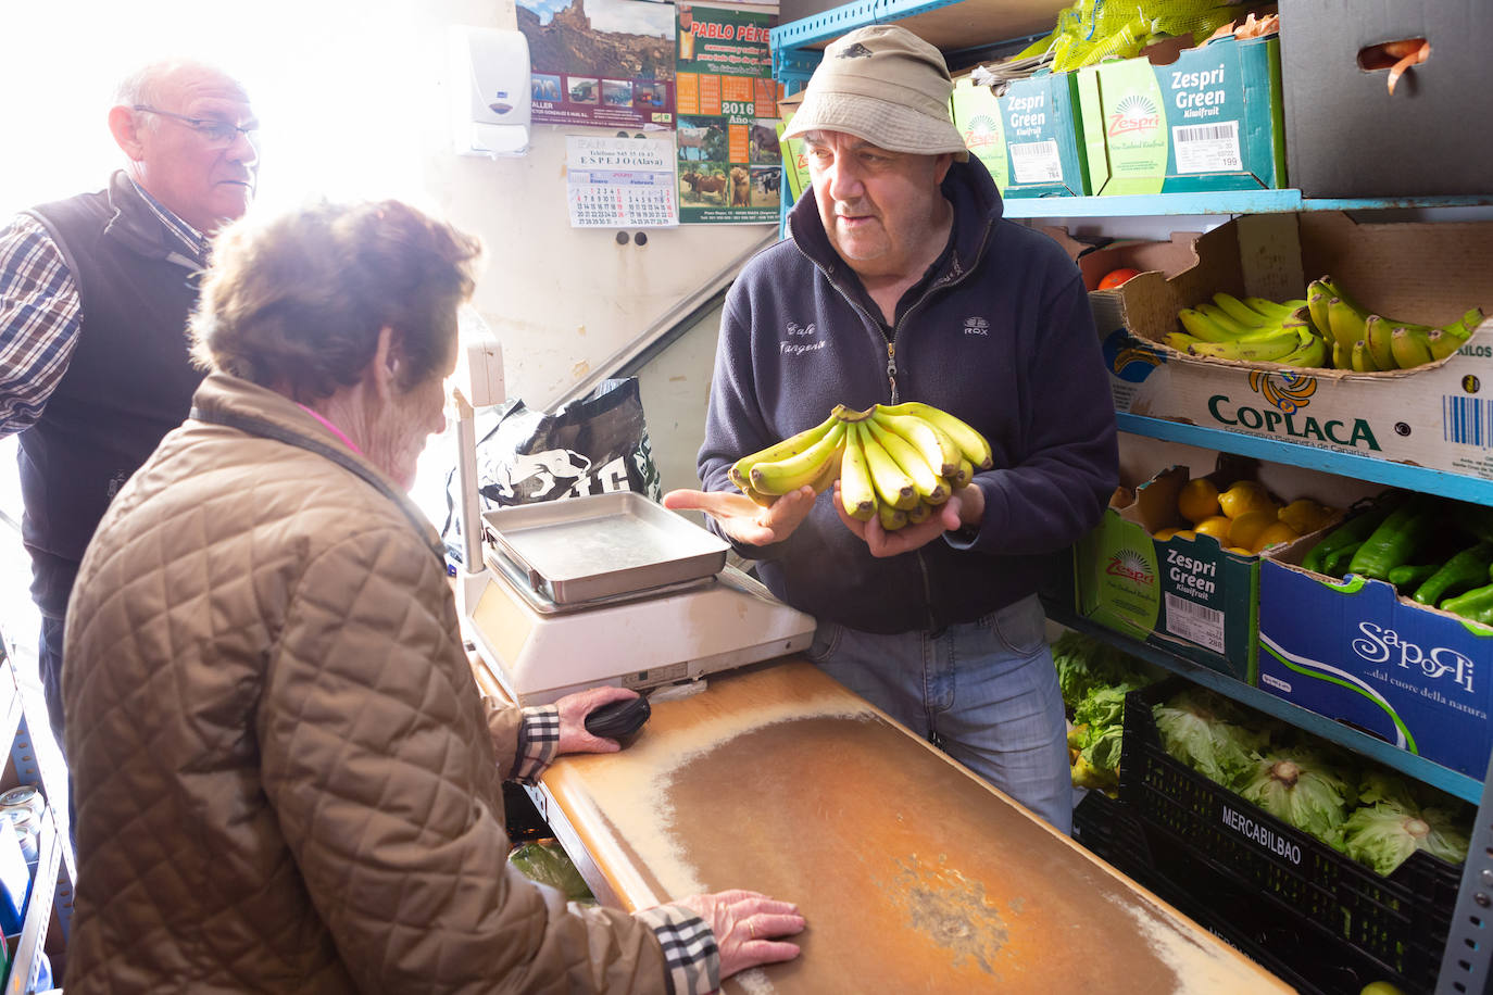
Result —
[[1303, 300], [1218, 292], [1176, 316], [1187, 331], [1173, 331], [1166, 345], [1181, 352], [1359, 373], [1435, 362], [1466, 345], [1483, 324], [1481, 307], [1441, 327], [1384, 318], [1357, 304], [1330, 276], [1312, 280]]

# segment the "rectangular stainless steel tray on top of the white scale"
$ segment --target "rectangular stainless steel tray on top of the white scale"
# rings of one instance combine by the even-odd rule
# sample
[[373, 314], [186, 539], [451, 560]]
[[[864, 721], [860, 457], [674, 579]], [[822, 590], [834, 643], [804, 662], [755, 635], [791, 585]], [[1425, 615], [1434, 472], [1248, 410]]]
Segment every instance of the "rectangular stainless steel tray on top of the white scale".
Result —
[[632, 491], [482, 513], [497, 549], [557, 604], [709, 577], [729, 544]]

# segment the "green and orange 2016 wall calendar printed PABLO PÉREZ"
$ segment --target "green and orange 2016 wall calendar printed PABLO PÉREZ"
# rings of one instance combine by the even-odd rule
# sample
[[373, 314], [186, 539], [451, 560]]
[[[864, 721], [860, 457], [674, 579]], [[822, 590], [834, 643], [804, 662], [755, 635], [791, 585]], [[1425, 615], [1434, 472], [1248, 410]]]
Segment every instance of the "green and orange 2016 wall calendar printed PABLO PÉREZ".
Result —
[[749, 7], [675, 6], [675, 146], [679, 224], [776, 224], [781, 163], [772, 79], [772, 15]]

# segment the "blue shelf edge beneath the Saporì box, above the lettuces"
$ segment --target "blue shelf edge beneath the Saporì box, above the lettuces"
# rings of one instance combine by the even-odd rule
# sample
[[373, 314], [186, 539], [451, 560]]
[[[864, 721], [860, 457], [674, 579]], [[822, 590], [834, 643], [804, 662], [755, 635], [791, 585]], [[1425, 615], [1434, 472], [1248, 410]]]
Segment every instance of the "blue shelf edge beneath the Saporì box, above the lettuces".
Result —
[[1357, 729], [1351, 729], [1339, 722], [1333, 722], [1332, 719], [1320, 716], [1315, 712], [1308, 712], [1306, 709], [1294, 706], [1284, 698], [1277, 698], [1268, 691], [1260, 691], [1259, 688], [1235, 680], [1227, 674], [1221, 674], [1217, 670], [1209, 670], [1188, 659], [1172, 656], [1163, 649], [1157, 649], [1139, 640], [1121, 635], [1111, 628], [1105, 628], [1103, 625], [1079, 618], [1073, 612], [1057, 604], [1047, 604], [1047, 616], [1060, 625], [1066, 625], [1070, 630], [1085, 633], [1109, 643], [1111, 646], [1117, 646], [1132, 656], [1139, 656], [1141, 659], [1147, 659], [1157, 667], [1181, 674], [1190, 682], [1203, 685], [1205, 688], [1217, 691], [1227, 698], [1233, 698], [1241, 704], [1247, 704], [1251, 709], [1284, 719], [1299, 729], [1306, 729], [1308, 732], [1324, 740], [1345, 746], [1360, 756], [1369, 756], [1386, 767], [1408, 774], [1409, 777], [1432, 785], [1433, 788], [1439, 788], [1448, 795], [1456, 795], [1457, 798], [1471, 801], [1472, 804], [1478, 804], [1483, 800], [1483, 782], [1475, 777], [1468, 777], [1466, 774], [1460, 774], [1450, 767], [1442, 767], [1441, 764], [1402, 750], [1366, 732], [1359, 732]]

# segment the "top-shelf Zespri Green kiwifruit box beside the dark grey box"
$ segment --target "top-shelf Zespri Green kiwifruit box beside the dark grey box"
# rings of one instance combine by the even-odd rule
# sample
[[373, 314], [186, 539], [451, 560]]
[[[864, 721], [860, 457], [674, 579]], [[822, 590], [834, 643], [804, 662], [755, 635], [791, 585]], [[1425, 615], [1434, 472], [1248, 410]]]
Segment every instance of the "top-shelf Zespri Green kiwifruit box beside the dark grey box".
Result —
[[1281, 45], [1221, 37], [1176, 61], [1076, 70], [1094, 194], [1171, 194], [1285, 186]]

